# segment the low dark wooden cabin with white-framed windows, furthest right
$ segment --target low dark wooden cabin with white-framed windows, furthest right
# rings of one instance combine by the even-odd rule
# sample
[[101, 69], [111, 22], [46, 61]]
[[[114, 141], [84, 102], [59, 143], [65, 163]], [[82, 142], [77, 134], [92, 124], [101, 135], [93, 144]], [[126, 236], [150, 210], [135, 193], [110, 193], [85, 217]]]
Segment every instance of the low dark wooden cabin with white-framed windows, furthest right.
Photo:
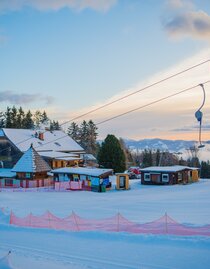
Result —
[[199, 179], [199, 168], [181, 165], [151, 166], [141, 169], [141, 184], [172, 185], [191, 183]]

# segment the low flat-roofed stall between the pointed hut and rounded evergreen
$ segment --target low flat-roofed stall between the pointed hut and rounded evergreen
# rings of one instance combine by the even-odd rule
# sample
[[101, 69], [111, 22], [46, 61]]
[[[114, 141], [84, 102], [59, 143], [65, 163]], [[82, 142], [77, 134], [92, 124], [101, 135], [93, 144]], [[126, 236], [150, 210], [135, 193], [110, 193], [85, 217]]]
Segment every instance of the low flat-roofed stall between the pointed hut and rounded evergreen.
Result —
[[56, 190], [105, 192], [111, 188], [112, 169], [65, 167], [52, 170]]

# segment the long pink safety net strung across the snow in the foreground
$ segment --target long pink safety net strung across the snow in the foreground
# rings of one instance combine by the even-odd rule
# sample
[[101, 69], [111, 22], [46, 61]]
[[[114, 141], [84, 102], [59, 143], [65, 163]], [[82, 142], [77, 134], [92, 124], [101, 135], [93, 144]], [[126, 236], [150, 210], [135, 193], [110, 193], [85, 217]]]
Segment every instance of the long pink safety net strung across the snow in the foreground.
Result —
[[94, 220], [81, 218], [74, 212], [65, 218], [56, 217], [49, 211], [41, 216], [29, 214], [23, 218], [17, 217], [11, 212], [10, 224], [23, 227], [48, 228], [65, 231], [109, 231], [138, 234], [210, 236], [210, 225], [195, 227], [180, 224], [167, 214], [155, 221], [140, 224], [126, 219], [120, 213], [110, 218]]

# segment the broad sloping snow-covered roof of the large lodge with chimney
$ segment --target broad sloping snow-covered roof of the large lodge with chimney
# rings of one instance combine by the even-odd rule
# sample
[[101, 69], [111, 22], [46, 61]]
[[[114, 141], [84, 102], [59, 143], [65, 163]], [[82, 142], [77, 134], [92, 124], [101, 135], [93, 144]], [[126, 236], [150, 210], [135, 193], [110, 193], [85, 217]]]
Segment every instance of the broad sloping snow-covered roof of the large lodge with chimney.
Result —
[[[35, 136], [37, 130], [3, 129], [7, 138], [22, 152], [27, 151], [31, 144], [36, 151], [84, 151], [84, 149], [63, 131], [42, 131], [44, 140]], [[40, 131], [41, 132], [41, 131]]]

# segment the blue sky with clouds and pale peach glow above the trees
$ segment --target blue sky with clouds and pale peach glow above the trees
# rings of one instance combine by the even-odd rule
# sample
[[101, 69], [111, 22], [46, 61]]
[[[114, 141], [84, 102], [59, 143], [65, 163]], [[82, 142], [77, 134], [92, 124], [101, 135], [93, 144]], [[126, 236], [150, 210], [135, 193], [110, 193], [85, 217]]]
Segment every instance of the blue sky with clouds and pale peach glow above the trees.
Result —
[[[0, 0], [0, 111], [46, 110], [63, 123], [206, 60], [209, 0]], [[80, 121], [101, 123], [208, 80], [210, 62]], [[210, 83], [205, 91], [210, 140]], [[198, 86], [98, 124], [99, 138], [197, 140], [202, 100]]]

